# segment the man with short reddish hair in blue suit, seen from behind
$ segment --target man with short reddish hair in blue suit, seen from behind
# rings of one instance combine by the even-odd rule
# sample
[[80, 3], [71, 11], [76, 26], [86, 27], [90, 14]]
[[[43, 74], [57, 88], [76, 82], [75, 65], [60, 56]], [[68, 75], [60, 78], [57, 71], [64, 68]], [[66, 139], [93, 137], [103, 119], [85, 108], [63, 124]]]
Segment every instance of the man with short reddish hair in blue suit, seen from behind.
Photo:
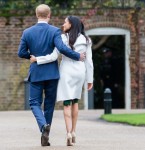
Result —
[[[45, 56], [53, 52], [56, 47], [60, 53], [76, 61], [85, 59], [85, 54], [79, 54], [67, 46], [61, 39], [61, 30], [48, 24], [50, 19], [50, 8], [41, 4], [36, 8], [38, 22], [24, 30], [18, 56], [30, 59], [31, 55]], [[41, 145], [50, 146], [49, 132], [55, 107], [57, 84], [59, 79], [58, 62], [37, 65], [32, 63], [29, 69], [28, 80], [30, 82], [30, 108], [37, 120], [41, 135]], [[44, 92], [44, 111], [41, 108]]]

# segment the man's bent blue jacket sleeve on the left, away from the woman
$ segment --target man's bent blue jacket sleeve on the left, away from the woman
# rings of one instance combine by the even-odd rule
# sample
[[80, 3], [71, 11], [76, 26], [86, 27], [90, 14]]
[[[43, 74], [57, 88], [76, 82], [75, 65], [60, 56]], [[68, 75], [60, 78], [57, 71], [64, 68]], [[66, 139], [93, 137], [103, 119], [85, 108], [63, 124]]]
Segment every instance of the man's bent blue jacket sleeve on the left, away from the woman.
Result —
[[28, 45], [25, 37], [25, 32], [23, 32], [21, 41], [18, 48], [18, 56], [20, 58], [30, 59], [30, 53], [28, 51]]

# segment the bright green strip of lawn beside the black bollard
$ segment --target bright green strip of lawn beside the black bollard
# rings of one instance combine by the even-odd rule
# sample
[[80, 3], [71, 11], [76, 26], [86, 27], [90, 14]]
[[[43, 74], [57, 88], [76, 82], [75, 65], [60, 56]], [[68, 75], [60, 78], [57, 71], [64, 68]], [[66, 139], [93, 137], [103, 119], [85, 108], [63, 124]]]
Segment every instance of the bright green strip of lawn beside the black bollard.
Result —
[[105, 114], [101, 116], [109, 122], [126, 123], [134, 126], [145, 126], [145, 113], [137, 114]]

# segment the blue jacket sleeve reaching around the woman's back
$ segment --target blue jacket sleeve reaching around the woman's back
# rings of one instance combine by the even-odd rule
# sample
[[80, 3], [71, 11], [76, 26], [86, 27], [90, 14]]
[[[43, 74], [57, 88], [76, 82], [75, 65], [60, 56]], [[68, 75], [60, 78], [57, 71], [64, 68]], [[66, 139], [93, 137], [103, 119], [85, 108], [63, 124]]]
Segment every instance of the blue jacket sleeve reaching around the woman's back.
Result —
[[74, 59], [74, 60], [79, 60], [80, 59], [80, 54], [73, 51], [72, 49], [68, 48], [62, 41], [61, 38], [61, 30], [58, 29], [54, 35], [54, 44], [55, 47], [58, 49], [58, 51], [65, 56]]

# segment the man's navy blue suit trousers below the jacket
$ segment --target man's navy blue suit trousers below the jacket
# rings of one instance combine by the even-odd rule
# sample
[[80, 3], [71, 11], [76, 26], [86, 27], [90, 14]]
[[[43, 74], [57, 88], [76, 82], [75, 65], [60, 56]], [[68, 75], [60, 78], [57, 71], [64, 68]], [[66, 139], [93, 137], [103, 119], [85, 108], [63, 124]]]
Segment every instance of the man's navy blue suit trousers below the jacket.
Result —
[[[58, 79], [30, 82], [30, 108], [35, 116], [39, 129], [52, 122]], [[44, 109], [42, 109], [44, 95]]]

